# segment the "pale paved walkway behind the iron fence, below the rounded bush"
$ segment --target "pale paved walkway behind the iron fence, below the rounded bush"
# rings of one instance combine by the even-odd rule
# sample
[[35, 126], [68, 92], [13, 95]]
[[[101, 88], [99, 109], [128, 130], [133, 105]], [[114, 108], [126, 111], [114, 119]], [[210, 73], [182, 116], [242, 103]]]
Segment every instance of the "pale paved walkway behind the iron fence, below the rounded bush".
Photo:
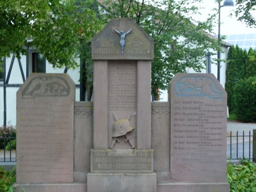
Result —
[[[239, 136], [240, 135], [242, 136], [244, 131], [244, 135], [247, 136], [247, 137], [244, 137], [244, 141], [249, 141], [249, 137], [248, 137], [249, 131], [251, 135], [250, 141], [252, 141], [253, 129], [256, 130], [256, 123], [241, 123], [237, 121], [227, 122], [227, 136], [230, 135], [230, 131], [232, 136], [236, 136], [237, 132]], [[236, 142], [237, 142], [237, 138], [232, 137], [232, 143], [236, 143]], [[243, 142], [243, 137], [238, 137], [238, 142]], [[230, 137], [227, 137], [227, 144], [230, 144]]]

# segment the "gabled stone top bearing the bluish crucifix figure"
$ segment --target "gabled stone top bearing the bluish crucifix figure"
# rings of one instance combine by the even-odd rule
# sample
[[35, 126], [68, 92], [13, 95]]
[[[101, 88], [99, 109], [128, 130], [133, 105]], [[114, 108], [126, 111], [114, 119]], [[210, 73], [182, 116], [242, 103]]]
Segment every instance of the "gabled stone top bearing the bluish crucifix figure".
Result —
[[115, 18], [92, 40], [93, 60], [153, 60], [154, 40], [130, 18]]

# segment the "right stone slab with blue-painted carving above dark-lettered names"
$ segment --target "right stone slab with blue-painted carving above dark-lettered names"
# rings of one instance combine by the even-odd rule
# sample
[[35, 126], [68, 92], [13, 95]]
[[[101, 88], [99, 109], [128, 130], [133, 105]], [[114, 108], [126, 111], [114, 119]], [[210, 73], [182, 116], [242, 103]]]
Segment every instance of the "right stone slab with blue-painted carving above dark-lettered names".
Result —
[[219, 86], [214, 79], [201, 75], [184, 75], [172, 82], [173, 181], [226, 181], [226, 94]]

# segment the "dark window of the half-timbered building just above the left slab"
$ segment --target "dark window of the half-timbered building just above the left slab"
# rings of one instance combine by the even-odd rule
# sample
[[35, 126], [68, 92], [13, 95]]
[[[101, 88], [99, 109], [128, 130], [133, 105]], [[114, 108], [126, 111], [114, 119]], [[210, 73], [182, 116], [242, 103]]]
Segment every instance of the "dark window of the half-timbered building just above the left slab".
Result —
[[32, 72], [45, 73], [46, 59], [40, 53], [32, 53]]

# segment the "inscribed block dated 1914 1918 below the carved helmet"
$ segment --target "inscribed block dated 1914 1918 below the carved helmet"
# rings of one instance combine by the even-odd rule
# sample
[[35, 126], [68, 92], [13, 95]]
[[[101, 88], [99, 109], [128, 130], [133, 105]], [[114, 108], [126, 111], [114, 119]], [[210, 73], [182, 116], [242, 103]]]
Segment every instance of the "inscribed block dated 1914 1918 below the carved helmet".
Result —
[[152, 173], [153, 150], [91, 150], [92, 173]]

